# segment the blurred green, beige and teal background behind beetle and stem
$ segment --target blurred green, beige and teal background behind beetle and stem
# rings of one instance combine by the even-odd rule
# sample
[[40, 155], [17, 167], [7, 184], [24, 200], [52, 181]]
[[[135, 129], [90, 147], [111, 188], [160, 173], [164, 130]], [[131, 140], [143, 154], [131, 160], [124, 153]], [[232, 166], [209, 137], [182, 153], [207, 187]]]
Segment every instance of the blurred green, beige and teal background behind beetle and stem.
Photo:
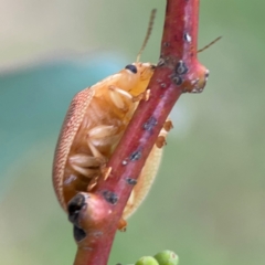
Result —
[[[158, 61], [165, 0], [1, 0], [0, 264], [70, 265], [76, 246], [56, 202], [53, 151], [73, 95], [134, 62]], [[210, 80], [183, 95], [153, 188], [109, 265], [170, 248], [182, 265], [265, 264], [265, 1], [201, 0]]]

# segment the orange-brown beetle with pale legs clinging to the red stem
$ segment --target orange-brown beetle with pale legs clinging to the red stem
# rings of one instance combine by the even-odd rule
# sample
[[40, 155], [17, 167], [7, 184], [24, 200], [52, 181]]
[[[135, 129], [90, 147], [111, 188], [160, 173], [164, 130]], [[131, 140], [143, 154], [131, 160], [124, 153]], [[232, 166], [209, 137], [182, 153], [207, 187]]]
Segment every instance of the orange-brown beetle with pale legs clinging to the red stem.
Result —
[[[106, 162], [120, 140], [137, 105], [148, 99], [148, 83], [156, 65], [140, 63], [139, 56], [150, 35], [155, 11], [151, 13], [146, 40], [137, 62], [127, 65], [73, 98], [57, 141], [53, 184], [62, 208], [81, 191], [92, 191], [98, 178], [107, 178]], [[135, 186], [123, 218], [127, 219], [141, 203], [156, 177], [161, 147], [171, 123], [160, 131]], [[131, 183], [135, 184], [135, 183]]]

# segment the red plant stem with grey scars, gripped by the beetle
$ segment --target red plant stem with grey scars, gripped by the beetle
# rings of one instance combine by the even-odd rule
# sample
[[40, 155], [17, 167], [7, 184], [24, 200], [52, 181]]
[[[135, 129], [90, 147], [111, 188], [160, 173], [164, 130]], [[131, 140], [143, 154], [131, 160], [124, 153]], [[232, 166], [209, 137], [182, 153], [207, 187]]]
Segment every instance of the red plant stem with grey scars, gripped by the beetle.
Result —
[[[199, 0], [167, 1], [161, 55], [149, 84], [149, 100], [140, 102], [107, 165], [112, 167], [108, 179], [102, 180], [93, 192], [99, 201], [102, 200], [106, 214], [103, 214], [102, 223], [89, 223], [87, 236], [78, 243], [75, 265], [107, 264], [118, 222], [134, 188], [126, 179], [137, 180], [165, 120], [180, 95], [183, 92], [201, 92], [205, 85], [208, 72], [197, 61], [198, 13]], [[147, 130], [144, 125], [150, 118], [157, 123], [151, 130]], [[115, 195], [117, 202], [106, 202], [106, 191]], [[87, 205], [89, 203], [87, 199]], [[82, 222], [85, 223], [85, 220]]]

